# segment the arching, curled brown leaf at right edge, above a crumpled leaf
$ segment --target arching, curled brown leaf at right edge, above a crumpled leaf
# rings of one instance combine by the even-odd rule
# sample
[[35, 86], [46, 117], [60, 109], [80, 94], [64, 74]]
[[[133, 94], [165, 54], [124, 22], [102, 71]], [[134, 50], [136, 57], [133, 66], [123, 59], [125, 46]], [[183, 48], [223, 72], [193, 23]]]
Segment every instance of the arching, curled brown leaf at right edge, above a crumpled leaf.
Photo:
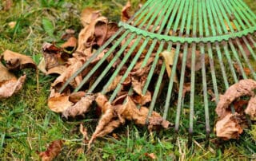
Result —
[[217, 104], [215, 112], [218, 117], [226, 116], [230, 112], [230, 104], [240, 96], [254, 96], [254, 89], [256, 88], [256, 81], [254, 80], [242, 80], [236, 84], [233, 84], [228, 88], [224, 95], [220, 96], [220, 100]]

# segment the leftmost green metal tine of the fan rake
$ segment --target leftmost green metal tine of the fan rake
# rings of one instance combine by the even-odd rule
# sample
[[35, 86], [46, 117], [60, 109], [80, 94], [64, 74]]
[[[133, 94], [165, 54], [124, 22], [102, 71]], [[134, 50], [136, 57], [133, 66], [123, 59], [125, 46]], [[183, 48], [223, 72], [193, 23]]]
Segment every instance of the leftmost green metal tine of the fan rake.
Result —
[[[147, 7], [150, 7], [150, 6], [152, 6], [152, 5], [154, 5], [154, 0], [149, 0], [149, 1], [147, 1], [147, 2], [145, 3], [145, 5], [142, 6], [142, 8], [139, 9], [138, 12], [136, 12], [136, 13], [134, 14], [134, 16], [133, 16], [132, 18], [130, 18], [130, 20], [129, 20], [127, 23], [132, 22], [132, 21], [134, 20], [134, 18], [136, 18], [136, 17], [137, 17], [139, 14], [141, 14], [141, 13], [142, 13], [141, 15], [143, 15], [143, 13], [146, 14], [146, 11], [147, 11], [147, 10], [145, 10], [145, 9], [147, 9]], [[143, 11], [143, 12], [142, 12], [142, 11]], [[141, 16], [141, 18], [142, 18], [142, 16]], [[63, 92], [64, 89], [67, 87], [67, 85], [70, 84], [70, 82], [71, 82], [72, 80], [74, 80], [74, 78], [77, 77], [79, 73], [81, 73], [84, 69], [86, 69], [86, 67], [87, 67], [88, 65], [90, 65], [90, 62], [93, 61], [96, 57], [98, 57], [98, 55], [99, 55], [100, 53], [102, 53], [103, 49], [105, 49], [108, 45], [110, 45], [110, 43], [111, 43], [112, 41], [114, 41], [114, 39], [115, 39], [116, 37], [118, 37], [118, 35], [119, 35], [120, 33], [122, 33], [122, 31], [124, 31], [124, 29], [123, 29], [122, 27], [121, 27], [120, 29], [118, 29], [118, 31], [117, 31], [116, 33], [114, 33], [114, 35], [113, 35], [112, 37], [110, 37], [110, 39], [109, 39], [108, 41], [106, 41], [105, 44], [102, 45], [102, 47], [100, 47], [100, 48], [97, 50], [97, 52], [94, 53], [94, 55], [91, 56], [91, 57], [89, 58], [89, 60], [86, 61], [86, 63], [85, 63], [84, 65], [82, 65], [82, 67], [81, 67], [80, 69], [78, 69], [78, 71], [77, 71], [76, 73], [74, 73], [74, 74], [65, 82], [65, 84], [62, 85], [62, 88], [60, 88], [59, 92]]]

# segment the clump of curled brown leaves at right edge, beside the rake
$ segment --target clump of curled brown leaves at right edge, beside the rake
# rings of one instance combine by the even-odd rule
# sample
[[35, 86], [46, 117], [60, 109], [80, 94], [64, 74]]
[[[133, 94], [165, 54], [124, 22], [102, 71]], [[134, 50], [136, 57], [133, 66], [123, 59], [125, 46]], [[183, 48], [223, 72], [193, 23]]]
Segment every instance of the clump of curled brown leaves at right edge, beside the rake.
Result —
[[[256, 81], [242, 80], [233, 84], [220, 96], [215, 112], [218, 121], [215, 124], [216, 135], [224, 140], [238, 139], [243, 129], [248, 127], [246, 115], [251, 120], [256, 119]], [[250, 100], [241, 100], [242, 96], [249, 96]], [[239, 100], [240, 99], [240, 100]], [[243, 106], [246, 106], [246, 109]], [[234, 107], [233, 113], [231, 108]]]

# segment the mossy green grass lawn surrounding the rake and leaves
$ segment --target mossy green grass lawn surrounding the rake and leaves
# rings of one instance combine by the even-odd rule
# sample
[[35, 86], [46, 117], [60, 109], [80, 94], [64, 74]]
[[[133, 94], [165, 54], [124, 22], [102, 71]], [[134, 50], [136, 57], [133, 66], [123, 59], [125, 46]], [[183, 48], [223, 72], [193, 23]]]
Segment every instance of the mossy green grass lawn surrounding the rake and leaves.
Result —
[[[256, 10], [254, 0], [246, 2], [254, 4], [251, 6]], [[14, 1], [10, 10], [0, 10], [0, 53], [10, 49], [31, 56], [38, 63], [42, 57], [44, 41], [60, 41], [65, 29], [74, 29], [78, 33], [82, 28], [79, 23], [82, 8], [92, 6], [117, 22], [124, 4], [124, 0]], [[0, 9], [3, 7], [1, 5]], [[17, 25], [11, 29], [9, 22], [16, 22]], [[50, 83], [55, 77], [46, 77], [40, 73], [37, 92], [34, 69], [15, 74], [21, 76], [23, 72], [27, 73], [27, 80], [22, 91], [9, 99], [0, 100], [0, 159], [38, 160], [38, 151], [45, 151], [47, 145], [55, 139], [66, 140], [56, 160], [147, 160], [149, 158], [146, 153], [154, 153], [159, 160], [256, 159], [255, 125], [246, 130], [239, 140], [220, 142], [211, 134], [210, 146], [204, 147], [206, 135], [202, 96], [195, 97], [197, 123], [194, 124], [194, 140], [190, 148], [187, 147], [189, 104], [184, 103], [178, 138], [173, 128], [150, 134], [146, 128], [129, 123], [114, 131], [118, 135], [117, 139], [106, 135], [103, 139], [97, 139], [90, 151], [86, 151], [79, 124], [85, 124], [91, 135], [98, 121], [94, 119], [94, 113], [87, 115], [84, 120], [62, 120], [61, 116], [47, 108]], [[174, 104], [170, 110], [170, 120], [174, 120], [175, 107]], [[211, 103], [210, 114], [213, 127], [214, 104]], [[79, 152], [81, 150], [86, 153]]]

